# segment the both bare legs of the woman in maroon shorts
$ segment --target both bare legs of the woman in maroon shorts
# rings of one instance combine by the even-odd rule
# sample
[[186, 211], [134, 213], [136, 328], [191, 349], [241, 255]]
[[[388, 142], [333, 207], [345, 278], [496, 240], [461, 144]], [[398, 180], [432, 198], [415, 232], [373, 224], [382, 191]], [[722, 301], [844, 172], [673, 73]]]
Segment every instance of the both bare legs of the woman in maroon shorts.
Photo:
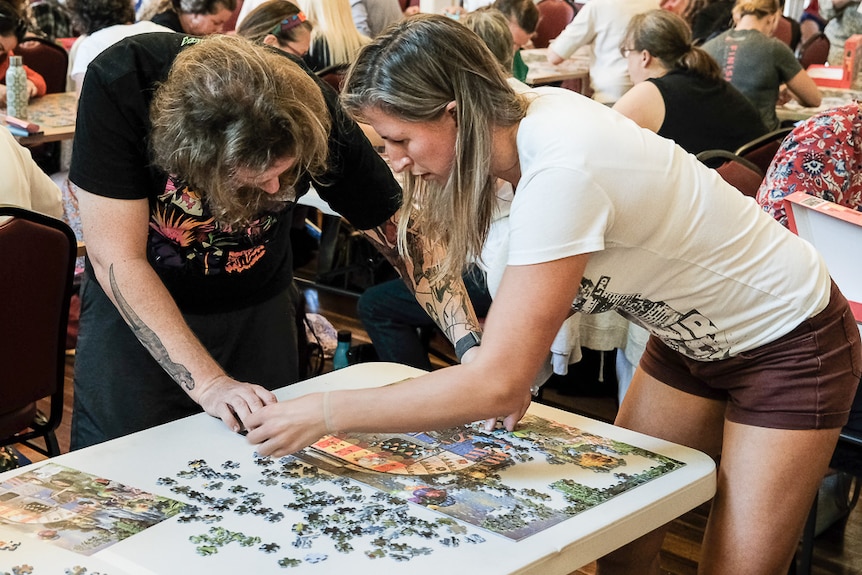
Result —
[[[722, 402], [680, 392], [638, 370], [616, 423], [713, 457], [721, 453], [700, 575], [784, 575], [840, 430], [753, 427], [725, 423], [723, 414]], [[597, 575], [658, 575], [665, 532], [657, 529], [600, 559]]]

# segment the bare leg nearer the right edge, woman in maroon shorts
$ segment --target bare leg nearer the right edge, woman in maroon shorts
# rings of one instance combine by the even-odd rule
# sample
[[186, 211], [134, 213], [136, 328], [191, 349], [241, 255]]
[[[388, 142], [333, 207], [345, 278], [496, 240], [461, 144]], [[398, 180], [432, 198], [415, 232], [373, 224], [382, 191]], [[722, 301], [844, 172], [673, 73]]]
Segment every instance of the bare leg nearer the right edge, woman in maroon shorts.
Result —
[[698, 573], [786, 574], [838, 433], [727, 422]]

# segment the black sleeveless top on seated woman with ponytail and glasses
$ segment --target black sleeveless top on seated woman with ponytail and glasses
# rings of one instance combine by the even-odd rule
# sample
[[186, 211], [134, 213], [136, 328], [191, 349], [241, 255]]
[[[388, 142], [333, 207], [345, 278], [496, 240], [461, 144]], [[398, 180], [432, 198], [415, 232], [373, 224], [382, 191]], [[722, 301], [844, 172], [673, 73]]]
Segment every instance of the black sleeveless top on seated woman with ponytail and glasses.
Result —
[[748, 98], [724, 80], [710, 80], [691, 72], [668, 72], [649, 78], [664, 99], [665, 117], [658, 135], [687, 152], [735, 152], [767, 132]]

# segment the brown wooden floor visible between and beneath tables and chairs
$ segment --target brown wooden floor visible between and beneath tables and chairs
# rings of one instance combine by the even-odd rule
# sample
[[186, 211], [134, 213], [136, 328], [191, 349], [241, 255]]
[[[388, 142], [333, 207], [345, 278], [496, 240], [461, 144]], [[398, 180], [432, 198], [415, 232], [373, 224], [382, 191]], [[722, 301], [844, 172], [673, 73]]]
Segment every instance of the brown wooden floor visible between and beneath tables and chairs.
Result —
[[[306, 301], [309, 311], [323, 314], [336, 329], [349, 329], [353, 332], [354, 343], [367, 343], [368, 336], [355, 317], [356, 300], [347, 295], [333, 295], [327, 291], [306, 290]], [[432, 346], [440, 355], [451, 354], [443, 341], [435, 340]], [[446, 365], [443, 360], [434, 359], [435, 367]], [[69, 431], [72, 406], [72, 369], [74, 356], [67, 358], [66, 378], [66, 411], [63, 423], [58, 431], [61, 449], [69, 449]], [[327, 370], [331, 366], [327, 366]], [[579, 398], [560, 393], [549, 392], [543, 398], [545, 402], [557, 407], [569, 409], [578, 413], [611, 419], [615, 411], [615, 402], [610, 398]], [[39, 454], [22, 449], [25, 455], [34, 461], [44, 459]], [[694, 575], [697, 572], [697, 562], [700, 553], [700, 541], [709, 506], [701, 507], [686, 513], [676, 519], [662, 548], [662, 569], [668, 575]], [[595, 565], [584, 566], [572, 575], [594, 575]], [[862, 575], [862, 505], [857, 506], [850, 516], [826, 530], [817, 538], [814, 555], [813, 575]], [[737, 575], [737, 574], [728, 574]]]

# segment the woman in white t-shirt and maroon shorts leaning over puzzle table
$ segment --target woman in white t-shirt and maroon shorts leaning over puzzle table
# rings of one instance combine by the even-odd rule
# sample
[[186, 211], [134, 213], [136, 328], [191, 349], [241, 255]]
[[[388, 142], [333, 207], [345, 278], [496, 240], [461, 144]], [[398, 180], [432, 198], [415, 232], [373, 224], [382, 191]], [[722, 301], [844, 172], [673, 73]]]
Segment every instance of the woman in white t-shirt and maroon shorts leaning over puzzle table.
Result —
[[[862, 369], [817, 252], [670, 140], [565, 89], [516, 93], [445, 16], [375, 39], [341, 97], [386, 141], [402, 218], [446, 246], [446, 277], [481, 249], [496, 179], [511, 182], [508, 266], [464, 363], [264, 406], [247, 421], [257, 451], [498, 416], [514, 429], [569, 313], [616, 309], [652, 334], [616, 424], [721, 454], [700, 573], [786, 572]], [[664, 532], [598, 572], [659, 573]]]

